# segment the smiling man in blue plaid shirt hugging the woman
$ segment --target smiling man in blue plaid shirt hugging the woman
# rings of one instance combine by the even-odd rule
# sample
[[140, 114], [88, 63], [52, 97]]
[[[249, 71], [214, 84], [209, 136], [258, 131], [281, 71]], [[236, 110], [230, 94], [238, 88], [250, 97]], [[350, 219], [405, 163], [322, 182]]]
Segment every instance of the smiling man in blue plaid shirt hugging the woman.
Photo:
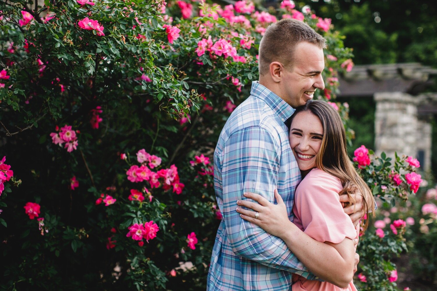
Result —
[[[250, 97], [229, 117], [215, 148], [214, 184], [223, 220], [207, 290], [291, 290], [291, 273], [317, 279], [284, 241], [241, 219], [236, 202], [244, 199], [243, 192], [260, 193], [274, 202], [277, 188], [293, 219], [294, 193], [301, 177], [286, 121], [293, 108], [325, 87], [321, 75], [325, 42], [307, 24], [290, 19], [269, 26], [261, 40], [260, 80], [253, 82]], [[357, 200], [356, 209], [362, 209], [362, 199]], [[351, 219], [357, 223], [363, 214], [356, 211]], [[312, 240], [308, 247], [319, 253], [331, 246]], [[323, 270], [312, 271], [324, 279]]]

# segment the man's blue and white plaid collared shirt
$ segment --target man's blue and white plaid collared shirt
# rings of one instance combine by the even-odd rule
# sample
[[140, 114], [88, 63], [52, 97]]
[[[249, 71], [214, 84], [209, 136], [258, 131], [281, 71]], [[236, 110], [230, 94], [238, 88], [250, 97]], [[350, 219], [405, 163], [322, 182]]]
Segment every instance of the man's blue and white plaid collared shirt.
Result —
[[239, 217], [237, 200], [254, 192], [274, 202], [274, 188], [293, 219], [300, 171], [284, 122], [294, 109], [258, 82], [232, 112], [214, 152], [214, 187], [223, 219], [217, 231], [207, 290], [291, 290], [291, 273], [316, 277], [283, 240]]

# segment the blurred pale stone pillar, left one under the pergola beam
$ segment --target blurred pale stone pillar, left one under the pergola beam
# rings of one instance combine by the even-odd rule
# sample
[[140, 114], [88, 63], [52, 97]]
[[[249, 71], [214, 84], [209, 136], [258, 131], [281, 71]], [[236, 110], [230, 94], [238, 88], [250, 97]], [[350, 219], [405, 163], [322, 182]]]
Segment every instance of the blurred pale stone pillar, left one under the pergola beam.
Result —
[[399, 154], [417, 156], [418, 100], [407, 93], [380, 92], [374, 95], [375, 153], [384, 151], [394, 157]]

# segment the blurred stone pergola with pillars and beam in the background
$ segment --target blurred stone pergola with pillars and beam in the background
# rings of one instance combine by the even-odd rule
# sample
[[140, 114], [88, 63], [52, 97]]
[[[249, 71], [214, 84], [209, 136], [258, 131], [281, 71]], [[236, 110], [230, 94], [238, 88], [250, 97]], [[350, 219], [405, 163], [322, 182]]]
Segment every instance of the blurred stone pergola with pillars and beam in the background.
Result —
[[340, 97], [373, 98], [376, 103], [376, 154], [413, 156], [423, 170], [430, 170], [430, 121], [437, 114], [437, 92], [424, 92], [433, 75], [437, 69], [404, 63], [357, 65], [340, 78]]

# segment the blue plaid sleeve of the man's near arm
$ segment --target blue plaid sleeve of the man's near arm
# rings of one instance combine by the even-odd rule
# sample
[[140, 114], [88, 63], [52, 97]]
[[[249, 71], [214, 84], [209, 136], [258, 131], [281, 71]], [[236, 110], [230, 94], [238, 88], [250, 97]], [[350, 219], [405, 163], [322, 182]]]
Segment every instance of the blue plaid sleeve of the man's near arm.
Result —
[[236, 212], [243, 192], [274, 201], [281, 146], [265, 129], [248, 127], [233, 133], [220, 155], [222, 163], [223, 220], [234, 253], [276, 269], [314, 280], [316, 276], [291, 253], [283, 240], [265, 232]]

